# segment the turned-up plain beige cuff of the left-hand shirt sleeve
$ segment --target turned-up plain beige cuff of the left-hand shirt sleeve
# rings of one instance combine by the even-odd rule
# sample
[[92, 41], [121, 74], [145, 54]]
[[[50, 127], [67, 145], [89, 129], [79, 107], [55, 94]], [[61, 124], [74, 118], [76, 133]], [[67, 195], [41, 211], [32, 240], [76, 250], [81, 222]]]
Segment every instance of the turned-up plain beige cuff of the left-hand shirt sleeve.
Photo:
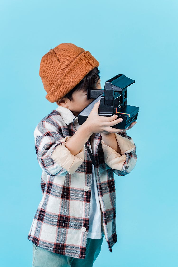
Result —
[[51, 154], [51, 158], [62, 168], [69, 172], [69, 174], [74, 174], [78, 167], [84, 161], [84, 147], [81, 148], [78, 154], [71, 154], [70, 150], [65, 147], [66, 141], [71, 136], [66, 136], [65, 138], [60, 140], [60, 143], [56, 145], [53, 153]]

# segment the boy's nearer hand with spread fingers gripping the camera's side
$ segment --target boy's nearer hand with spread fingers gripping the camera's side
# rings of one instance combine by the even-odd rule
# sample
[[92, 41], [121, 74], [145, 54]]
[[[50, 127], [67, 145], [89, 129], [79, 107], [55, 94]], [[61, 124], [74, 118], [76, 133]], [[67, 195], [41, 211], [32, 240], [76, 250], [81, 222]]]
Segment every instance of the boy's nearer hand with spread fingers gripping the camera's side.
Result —
[[100, 100], [94, 104], [94, 107], [92, 111], [90, 112], [90, 115], [84, 122], [84, 125], [86, 125], [88, 131], [92, 135], [93, 133], [116, 133], [121, 132], [123, 130], [121, 129], [115, 129], [111, 126], [116, 125], [122, 121], [122, 118], [117, 119], [117, 115], [113, 115], [111, 117], [107, 116], [99, 116], [98, 115], [98, 108], [100, 105]]

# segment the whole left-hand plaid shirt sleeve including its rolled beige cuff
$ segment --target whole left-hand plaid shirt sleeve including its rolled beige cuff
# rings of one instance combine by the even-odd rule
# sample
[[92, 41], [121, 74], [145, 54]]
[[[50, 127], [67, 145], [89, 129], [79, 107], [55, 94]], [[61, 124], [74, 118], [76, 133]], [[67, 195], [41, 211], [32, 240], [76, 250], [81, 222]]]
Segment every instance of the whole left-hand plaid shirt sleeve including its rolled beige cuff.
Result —
[[39, 166], [48, 175], [64, 176], [68, 171], [72, 174], [84, 160], [84, 148], [73, 156], [65, 147], [66, 140], [71, 136], [64, 137], [60, 125], [54, 124], [52, 119], [46, 119], [35, 128], [35, 150]]

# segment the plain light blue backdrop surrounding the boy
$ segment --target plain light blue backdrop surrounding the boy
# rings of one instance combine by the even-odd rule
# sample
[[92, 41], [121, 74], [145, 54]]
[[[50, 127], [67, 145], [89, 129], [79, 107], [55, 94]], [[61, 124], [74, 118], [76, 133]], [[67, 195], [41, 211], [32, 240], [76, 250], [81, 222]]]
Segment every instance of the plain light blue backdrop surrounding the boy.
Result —
[[31, 266], [27, 239], [41, 201], [33, 132], [56, 109], [45, 99], [41, 58], [60, 43], [89, 50], [101, 86], [118, 73], [135, 80], [139, 107], [127, 131], [133, 171], [116, 180], [118, 241], [104, 239], [93, 266], [178, 266], [177, 1], [1, 1], [1, 266]]

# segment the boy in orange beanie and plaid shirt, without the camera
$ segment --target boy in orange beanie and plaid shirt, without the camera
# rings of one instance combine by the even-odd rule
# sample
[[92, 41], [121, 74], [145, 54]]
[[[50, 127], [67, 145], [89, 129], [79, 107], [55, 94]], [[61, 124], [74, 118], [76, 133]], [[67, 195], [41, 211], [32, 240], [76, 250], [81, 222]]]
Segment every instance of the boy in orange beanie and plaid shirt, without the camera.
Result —
[[111, 252], [117, 241], [114, 173], [135, 167], [136, 146], [125, 131], [136, 122], [112, 128], [121, 119], [99, 116], [98, 101], [78, 124], [78, 113], [93, 101], [87, 90], [101, 89], [98, 66], [89, 51], [67, 43], [41, 59], [46, 99], [58, 108], [34, 131], [43, 197], [28, 235], [33, 266], [93, 266], [104, 236]]

